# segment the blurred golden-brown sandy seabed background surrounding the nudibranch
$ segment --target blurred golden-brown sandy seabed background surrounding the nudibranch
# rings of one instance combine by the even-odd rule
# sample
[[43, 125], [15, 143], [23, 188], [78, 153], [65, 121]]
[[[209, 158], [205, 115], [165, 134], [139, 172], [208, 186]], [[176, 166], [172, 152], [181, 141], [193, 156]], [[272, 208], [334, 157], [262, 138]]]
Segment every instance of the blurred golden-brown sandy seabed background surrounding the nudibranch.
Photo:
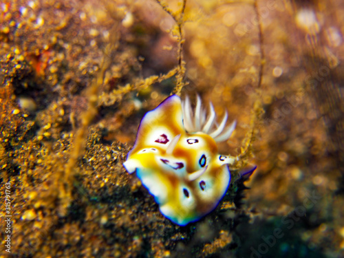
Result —
[[[241, 206], [225, 200], [183, 228], [122, 167], [142, 116], [175, 89], [180, 34], [162, 5], [184, 17], [182, 98], [200, 94], [237, 120], [220, 153], [238, 155], [254, 104], [264, 110]], [[11, 182], [14, 257], [344, 257], [344, 2], [162, 5], [0, 3], [1, 196]], [[85, 153], [64, 181], [79, 128]]]

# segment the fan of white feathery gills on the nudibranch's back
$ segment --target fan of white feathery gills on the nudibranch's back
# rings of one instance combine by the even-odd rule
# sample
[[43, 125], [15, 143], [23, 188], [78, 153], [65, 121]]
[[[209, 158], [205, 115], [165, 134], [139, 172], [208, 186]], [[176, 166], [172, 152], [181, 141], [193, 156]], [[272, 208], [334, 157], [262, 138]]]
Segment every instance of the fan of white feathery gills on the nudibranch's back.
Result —
[[[212, 103], [209, 103], [209, 111], [202, 107], [200, 96], [197, 95], [195, 111], [191, 107], [189, 96], [182, 101], [182, 109], [184, 115], [184, 127], [189, 133], [202, 131], [213, 137], [215, 142], [223, 142], [228, 140], [233, 133], [236, 121], [226, 127], [228, 118], [227, 111], [224, 114], [222, 122], [218, 125], [216, 122], [216, 114]], [[225, 128], [226, 127], [226, 128]]]

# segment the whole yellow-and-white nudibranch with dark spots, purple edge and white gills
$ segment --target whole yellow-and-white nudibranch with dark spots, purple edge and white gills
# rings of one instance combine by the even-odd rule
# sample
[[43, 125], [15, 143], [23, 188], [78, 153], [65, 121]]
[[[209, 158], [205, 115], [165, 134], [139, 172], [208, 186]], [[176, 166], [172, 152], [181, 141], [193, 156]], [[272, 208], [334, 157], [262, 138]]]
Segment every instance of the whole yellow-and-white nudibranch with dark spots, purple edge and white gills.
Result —
[[123, 164], [136, 172], [154, 196], [161, 213], [184, 226], [213, 211], [230, 183], [228, 164], [235, 158], [220, 155], [217, 142], [227, 140], [235, 122], [228, 114], [217, 124], [197, 96], [195, 110], [189, 98], [173, 95], [142, 118], [136, 142]]

